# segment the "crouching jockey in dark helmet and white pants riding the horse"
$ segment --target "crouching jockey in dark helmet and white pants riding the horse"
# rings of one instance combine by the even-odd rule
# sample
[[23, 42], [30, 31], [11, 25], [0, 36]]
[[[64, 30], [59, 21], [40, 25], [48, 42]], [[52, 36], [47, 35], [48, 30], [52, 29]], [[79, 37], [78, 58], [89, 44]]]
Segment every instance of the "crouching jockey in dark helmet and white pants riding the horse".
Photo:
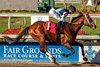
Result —
[[68, 14], [72, 14], [76, 11], [76, 8], [74, 6], [69, 6], [67, 9], [65, 8], [51, 8], [50, 11], [49, 11], [49, 15], [55, 19], [58, 20], [58, 23], [57, 23], [57, 28], [56, 28], [56, 40], [57, 40], [57, 43], [59, 43], [59, 39], [60, 39], [60, 27], [62, 26], [63, 22], [68, 22], [66, 19], [66, 16]]

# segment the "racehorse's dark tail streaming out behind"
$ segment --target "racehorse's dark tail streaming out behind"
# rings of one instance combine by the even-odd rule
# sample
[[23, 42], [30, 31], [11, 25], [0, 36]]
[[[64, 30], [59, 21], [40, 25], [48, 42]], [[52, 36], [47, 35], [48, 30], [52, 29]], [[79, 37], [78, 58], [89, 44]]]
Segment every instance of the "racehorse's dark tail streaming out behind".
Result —
[[12, 44], [12, 43], [18, 42], [22, 38], [23, 35], [27, 35], [28, 29], [29, 27], [26, 27], [22, 32], [18, 34], [16, 38], [10, 38], [9, 36], [3, 36], [3, 37], [9, 44]]

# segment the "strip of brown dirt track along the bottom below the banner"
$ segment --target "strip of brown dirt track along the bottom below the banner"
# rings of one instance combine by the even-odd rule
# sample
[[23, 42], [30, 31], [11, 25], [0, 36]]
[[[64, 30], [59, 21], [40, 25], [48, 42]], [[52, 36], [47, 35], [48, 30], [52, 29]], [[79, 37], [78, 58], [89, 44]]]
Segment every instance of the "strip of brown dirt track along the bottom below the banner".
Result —
[[90, 63], [32, 63], [32, 62], [0, 62], [0, 67], [100, 67]]

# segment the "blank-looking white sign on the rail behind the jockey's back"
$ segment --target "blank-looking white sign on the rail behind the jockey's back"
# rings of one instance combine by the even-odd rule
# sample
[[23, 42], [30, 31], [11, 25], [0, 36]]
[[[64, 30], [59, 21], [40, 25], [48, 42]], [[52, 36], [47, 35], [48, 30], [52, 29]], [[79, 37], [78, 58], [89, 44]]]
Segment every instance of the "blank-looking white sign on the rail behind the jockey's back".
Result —
[[48, 21], [49, 15], [48, 14], [34, 14], [31, 16], [31, 24], [35, 23], [36, 21]]

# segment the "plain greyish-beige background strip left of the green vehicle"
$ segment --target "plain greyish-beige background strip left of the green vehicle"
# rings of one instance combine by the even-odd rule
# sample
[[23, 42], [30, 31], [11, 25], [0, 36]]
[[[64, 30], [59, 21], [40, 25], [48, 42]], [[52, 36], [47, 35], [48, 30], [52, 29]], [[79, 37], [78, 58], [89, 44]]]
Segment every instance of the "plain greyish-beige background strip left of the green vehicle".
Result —
[[0, 0], [0, 10], [38, 10], [38, 0]]

